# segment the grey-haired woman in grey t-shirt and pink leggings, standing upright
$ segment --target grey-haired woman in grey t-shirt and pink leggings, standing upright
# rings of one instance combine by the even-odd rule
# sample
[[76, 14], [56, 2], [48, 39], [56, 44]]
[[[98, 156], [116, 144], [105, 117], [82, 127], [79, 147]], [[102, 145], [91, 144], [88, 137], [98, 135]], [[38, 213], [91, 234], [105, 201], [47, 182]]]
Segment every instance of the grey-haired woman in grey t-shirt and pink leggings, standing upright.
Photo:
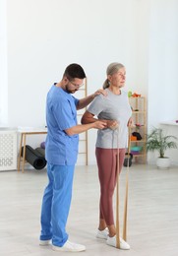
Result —
[[[128, 95], [122, 91], [125, 85], [126, 70], [120, 63], [107, 67], [107, 79], [103, 89], [107, 96], [99, 95], [84, 113], [82, 123], [97, 119], [105, 121], [107, 127], [98, 130], [95, 156], [100, 182], [99, 226], [96, 237], [106, 239], [106, 244], [116, 247], [116, 227], [113, 215], [113, 194], [117, 171], [121, 172], [126, 148], [128, 147], [128, 126], [131, 124], [132, 110]], [[119, 168], [117, 154], [119, 152]], [[130, 245], [120, 237], [120, 249], [128, 250]]]

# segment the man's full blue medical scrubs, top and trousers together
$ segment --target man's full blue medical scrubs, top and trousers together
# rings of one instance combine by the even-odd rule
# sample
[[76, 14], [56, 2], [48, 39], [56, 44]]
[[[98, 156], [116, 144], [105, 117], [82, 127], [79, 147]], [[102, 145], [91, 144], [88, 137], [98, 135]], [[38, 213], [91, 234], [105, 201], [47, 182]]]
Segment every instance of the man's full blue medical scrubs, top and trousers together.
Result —
[[41, 208], [40, 240], [52, 238], [56, 246], [68, 239], [66, 224], [69, 215], [79, 135], [69, 136], [64, 130], [77, 125], [79, 99], [61, 88], [52, 86], [46, 101], [48, 185], [44, 190]]

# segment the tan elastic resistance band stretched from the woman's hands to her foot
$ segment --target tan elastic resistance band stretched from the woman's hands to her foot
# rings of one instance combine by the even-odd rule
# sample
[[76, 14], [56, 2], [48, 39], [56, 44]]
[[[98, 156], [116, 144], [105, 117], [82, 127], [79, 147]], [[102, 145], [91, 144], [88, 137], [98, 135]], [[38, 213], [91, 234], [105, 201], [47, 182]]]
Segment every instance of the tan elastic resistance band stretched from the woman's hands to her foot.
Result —
[[[119, 135], [119, 127], [118, 127]], [[119, 224], [119, 184], [120, 184], [120, 175], [119, 175], [119, 142], [117, 136], [117, 186], [116, 186], [116, 248], [120, 249], [120, 224]], [[126, 172], [126, 194], [125, 194], [125, 205], [124, 205], [124, 223], [123, 223], [123, 239], [127, 239], [127, 206], [128, 206], [128, 184], [129, 184], [129, 156], [130, 156], [130, 127], [128, 134], [128, 161], [127, 161], [127, 172]]]

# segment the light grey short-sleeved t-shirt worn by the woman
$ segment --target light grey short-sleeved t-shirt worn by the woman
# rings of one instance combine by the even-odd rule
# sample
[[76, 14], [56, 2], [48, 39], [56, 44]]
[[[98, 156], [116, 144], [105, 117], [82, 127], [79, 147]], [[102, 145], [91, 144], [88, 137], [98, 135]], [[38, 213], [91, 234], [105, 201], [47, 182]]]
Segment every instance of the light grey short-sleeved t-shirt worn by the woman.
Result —
[[107, 96], [96, 96], [90, 103], [88, 111], [98, 119], [116, 120], [119, 127], [97, 131], [96, 147], [103, 149], [124, 149], [128, 147], [128, 120], [132, 115], [128, 94], [114, 95], [106, 89]]

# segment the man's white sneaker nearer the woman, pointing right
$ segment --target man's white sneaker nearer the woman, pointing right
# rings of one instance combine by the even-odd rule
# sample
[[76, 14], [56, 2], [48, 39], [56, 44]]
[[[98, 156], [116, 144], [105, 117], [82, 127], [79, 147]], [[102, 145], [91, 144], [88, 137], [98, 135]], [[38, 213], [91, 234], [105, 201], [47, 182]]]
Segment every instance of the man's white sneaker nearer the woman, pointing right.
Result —
[[62, 247], [52, 245], [52, 249], [54, 251], [71, 251], [71, 252], [77, 252], [77, 251], [85, 251], [86, 246], [74, 242], [70, 242], [67, 240], [65, 244]]

